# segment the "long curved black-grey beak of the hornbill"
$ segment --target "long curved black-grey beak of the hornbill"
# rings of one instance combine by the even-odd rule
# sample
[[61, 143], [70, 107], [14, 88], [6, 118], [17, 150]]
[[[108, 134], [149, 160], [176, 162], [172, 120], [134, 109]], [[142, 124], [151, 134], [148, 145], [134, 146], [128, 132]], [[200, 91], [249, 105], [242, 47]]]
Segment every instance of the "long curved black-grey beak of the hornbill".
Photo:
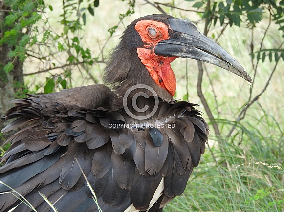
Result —
[[213, 40], [201, 34], [197, 27], [184, 19], [168, 19], [172, 29], [170, 39], [160, 41], [156, 55], [192, 58], [224, 68], [252, 82], [251, 77], [229, 53]]

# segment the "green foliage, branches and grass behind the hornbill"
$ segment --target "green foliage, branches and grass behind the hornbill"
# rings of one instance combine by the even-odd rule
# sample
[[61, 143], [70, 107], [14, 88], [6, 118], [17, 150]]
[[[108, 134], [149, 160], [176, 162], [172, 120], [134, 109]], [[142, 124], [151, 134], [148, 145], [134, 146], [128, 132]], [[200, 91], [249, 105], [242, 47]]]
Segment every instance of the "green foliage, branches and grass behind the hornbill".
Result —
[[[211, 140], [166, 211], [283, 212], [284, 0], [0, 1], [0, 89], [19, 98], [101, 83], [124, 28], [152, 13], [190, 19], [253, 79], [248, 85], [210, 65], [173, 62], [175, 97], [201, 104]], [[1, 103], [8, 93], [1, 90]]]

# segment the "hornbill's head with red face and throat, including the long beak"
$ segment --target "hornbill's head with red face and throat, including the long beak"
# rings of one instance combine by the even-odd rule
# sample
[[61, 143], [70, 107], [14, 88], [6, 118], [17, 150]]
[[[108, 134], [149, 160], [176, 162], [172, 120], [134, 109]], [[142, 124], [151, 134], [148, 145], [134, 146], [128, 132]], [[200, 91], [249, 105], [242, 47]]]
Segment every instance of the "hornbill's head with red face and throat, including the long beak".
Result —
[[148, 80], [174, 96], [176, 79], [170, 63], [178, 57], [217, 65], [252, 82], [242, 66], [191, 21], [161, 14], [136, 19], [127, 27], [112, 53], [105, 78], [112, 78], [106, 80], [110, 83], [128, 81], [127, 87]]

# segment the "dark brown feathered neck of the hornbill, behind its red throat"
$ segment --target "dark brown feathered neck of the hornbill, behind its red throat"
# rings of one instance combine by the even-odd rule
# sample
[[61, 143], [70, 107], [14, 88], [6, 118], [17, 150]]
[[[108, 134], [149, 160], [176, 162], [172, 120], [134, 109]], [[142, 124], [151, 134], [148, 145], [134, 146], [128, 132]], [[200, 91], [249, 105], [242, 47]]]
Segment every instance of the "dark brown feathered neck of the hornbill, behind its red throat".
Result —
[[171, 94], [157, 85], [147, 68], [138, 58], [136, 49], [133, 51], [121, 51], [118, 45], [111, 54], [109, 63], [105, 69], [104, 81], [117, 94], [118, 99], [114, 103], [117, 107], [122, 106], [123, 98], [133, 97], [138, 92], [148, 96], [157, 95], [163, 100], [172, 99]]

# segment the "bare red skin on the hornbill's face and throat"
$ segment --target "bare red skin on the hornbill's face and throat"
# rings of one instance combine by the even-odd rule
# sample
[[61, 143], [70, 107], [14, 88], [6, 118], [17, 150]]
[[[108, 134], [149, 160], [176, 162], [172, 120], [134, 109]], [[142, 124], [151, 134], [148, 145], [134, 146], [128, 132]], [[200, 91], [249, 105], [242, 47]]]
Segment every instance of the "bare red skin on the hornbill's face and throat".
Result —
[[174, 96], [176, 79], [170, 63], [177, 57], [159, 56], [154, 53], [158, 42], [170, 38], [168, 26], [158, 21], [140, 20], [136, 23], [135, 29], [142, 41], [147, 43], [144, 45], [145, 48], [137, 48], [138, 57], [146, 66], [155, 83]]

